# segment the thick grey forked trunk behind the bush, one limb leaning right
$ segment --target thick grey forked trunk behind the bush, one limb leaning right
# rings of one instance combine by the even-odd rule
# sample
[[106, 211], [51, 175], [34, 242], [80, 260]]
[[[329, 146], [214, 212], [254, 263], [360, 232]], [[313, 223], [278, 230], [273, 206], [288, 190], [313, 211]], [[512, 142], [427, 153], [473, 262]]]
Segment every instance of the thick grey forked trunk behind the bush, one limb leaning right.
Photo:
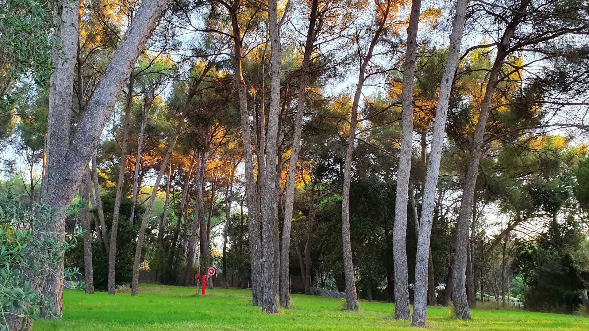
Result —
[[[74, 72], [73, 67], [70, 68], [70, 66], [73, 66], [74, 63], [73, 61], [62, 62], [62, 57], [56, 58], [58, 69], [52, 76], [54, 82], [51, 84], [49, 93], [50, 99], [53, 95], [53, 102], [49, 102], [53, 107], [49, 107], [48, 164], [42, 198], [44, 203], [49, 204], [57, 211], [58, 222], [53, 230], [56, 233], [55, 239], [58, 241], [64, 240], [65, 208], [74, 197], [78, 183], [80, 183], [82, 174], [88, 167], [95, 147], [100, 141], [100, 135], [110, 117], [118, 95], [123, 90], [125, 81], [128, 80], [147, 39], [154, 31], [166, 3], [167, 0], [141, 3], [133, 22], [129, 25], [117, 50], [112, 55], [110, 64], [98, 82], [94, 94], [87, 102], [84, 114], [71, 140], [67, 133], [70, 131], [69, 114], [71, 112], [72, 75]], [[61, 21], [64, 21], [64, 29], [60, 31], [61, 37], [67, 41], [64, 43], [67, 51], [65, 51], [63, 58], [72, 59], [75, 58], [75, 49], [77, 49], [79, 8], [78, 4], [71, 2], [64, 2], [63, 8], [67, 9], [64, 10], [67, 16], [61, 17]], [[71, 52], [69, 51], [70, 44]], [[61, 45], [59, 47], [61, 48]], [[69, 54], [71, 56], [68, 56]], [[64, 54], [61, 52], [56, 54], [56, 56], [61, 55]], [[58, 104], [59, 106], [57, 106]], [[69, 145], [70, 141], [73, 142], [71, 145]], [[55, 273], [54, 276], [47, 277], [43, 293], [54, 299], [55, 312], [61, 314], [63, 261], [52, 266], [51, 269], [55, 270]], [[43, 310], [41, 315], [46, 316], [47, 310]]]

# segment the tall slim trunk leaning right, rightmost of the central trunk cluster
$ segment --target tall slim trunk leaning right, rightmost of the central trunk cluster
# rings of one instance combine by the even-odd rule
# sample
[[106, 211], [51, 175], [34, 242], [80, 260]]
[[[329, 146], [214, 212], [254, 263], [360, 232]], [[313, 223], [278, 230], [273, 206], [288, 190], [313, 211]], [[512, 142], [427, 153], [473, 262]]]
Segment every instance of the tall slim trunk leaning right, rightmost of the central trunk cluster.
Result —
[[296, 177], [296, 164], [300, 152], [300, 138], [303, 133], [303, 114], [305, 113], [305, 100], [307, 90], [307, 74], [309, 74], [309, 61], [313, 50], [313, 42], [317, 35], [315, 24], [317, 22], [317, 6], [319, 0], [312, 0], [309, 29], [303, 54], [303, 66], [299, 85], [299, 99], [297, 101], [297, 113], [294, 120], [294, 133], [292, 150], [290, 153], [289, 173], [286, 181], [286, 198], [284, 201], [284, 222], [282, 227], [282, 244], [280, 250], [280, 305], [284, 308], [290, 306], [290, 228], [292, 226], [292, 214], [294, 204], [294, 180]]

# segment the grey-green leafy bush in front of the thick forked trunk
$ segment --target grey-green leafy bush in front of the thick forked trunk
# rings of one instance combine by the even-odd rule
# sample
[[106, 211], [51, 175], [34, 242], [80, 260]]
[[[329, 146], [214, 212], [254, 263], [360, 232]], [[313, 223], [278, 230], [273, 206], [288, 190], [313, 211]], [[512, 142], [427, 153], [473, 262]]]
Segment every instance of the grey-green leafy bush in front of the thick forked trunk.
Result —
[[[25, 322], [38, 318], [41, 307], [48, 307], [51, 314], [51, 297], [37, 289], [49, 272], [47, 266], [57, 263], [62, 252], [71, 247], [68, 241], [55, 241], [49, 232], [55, 224], [51, 207], [35, 204], [25, 208], [15, 191], [12, 185], [0, 185], [2, 331], [21, 329]], [[66, 269], [65, 277], [71, 279], [76, 273], [75, 268]]]

